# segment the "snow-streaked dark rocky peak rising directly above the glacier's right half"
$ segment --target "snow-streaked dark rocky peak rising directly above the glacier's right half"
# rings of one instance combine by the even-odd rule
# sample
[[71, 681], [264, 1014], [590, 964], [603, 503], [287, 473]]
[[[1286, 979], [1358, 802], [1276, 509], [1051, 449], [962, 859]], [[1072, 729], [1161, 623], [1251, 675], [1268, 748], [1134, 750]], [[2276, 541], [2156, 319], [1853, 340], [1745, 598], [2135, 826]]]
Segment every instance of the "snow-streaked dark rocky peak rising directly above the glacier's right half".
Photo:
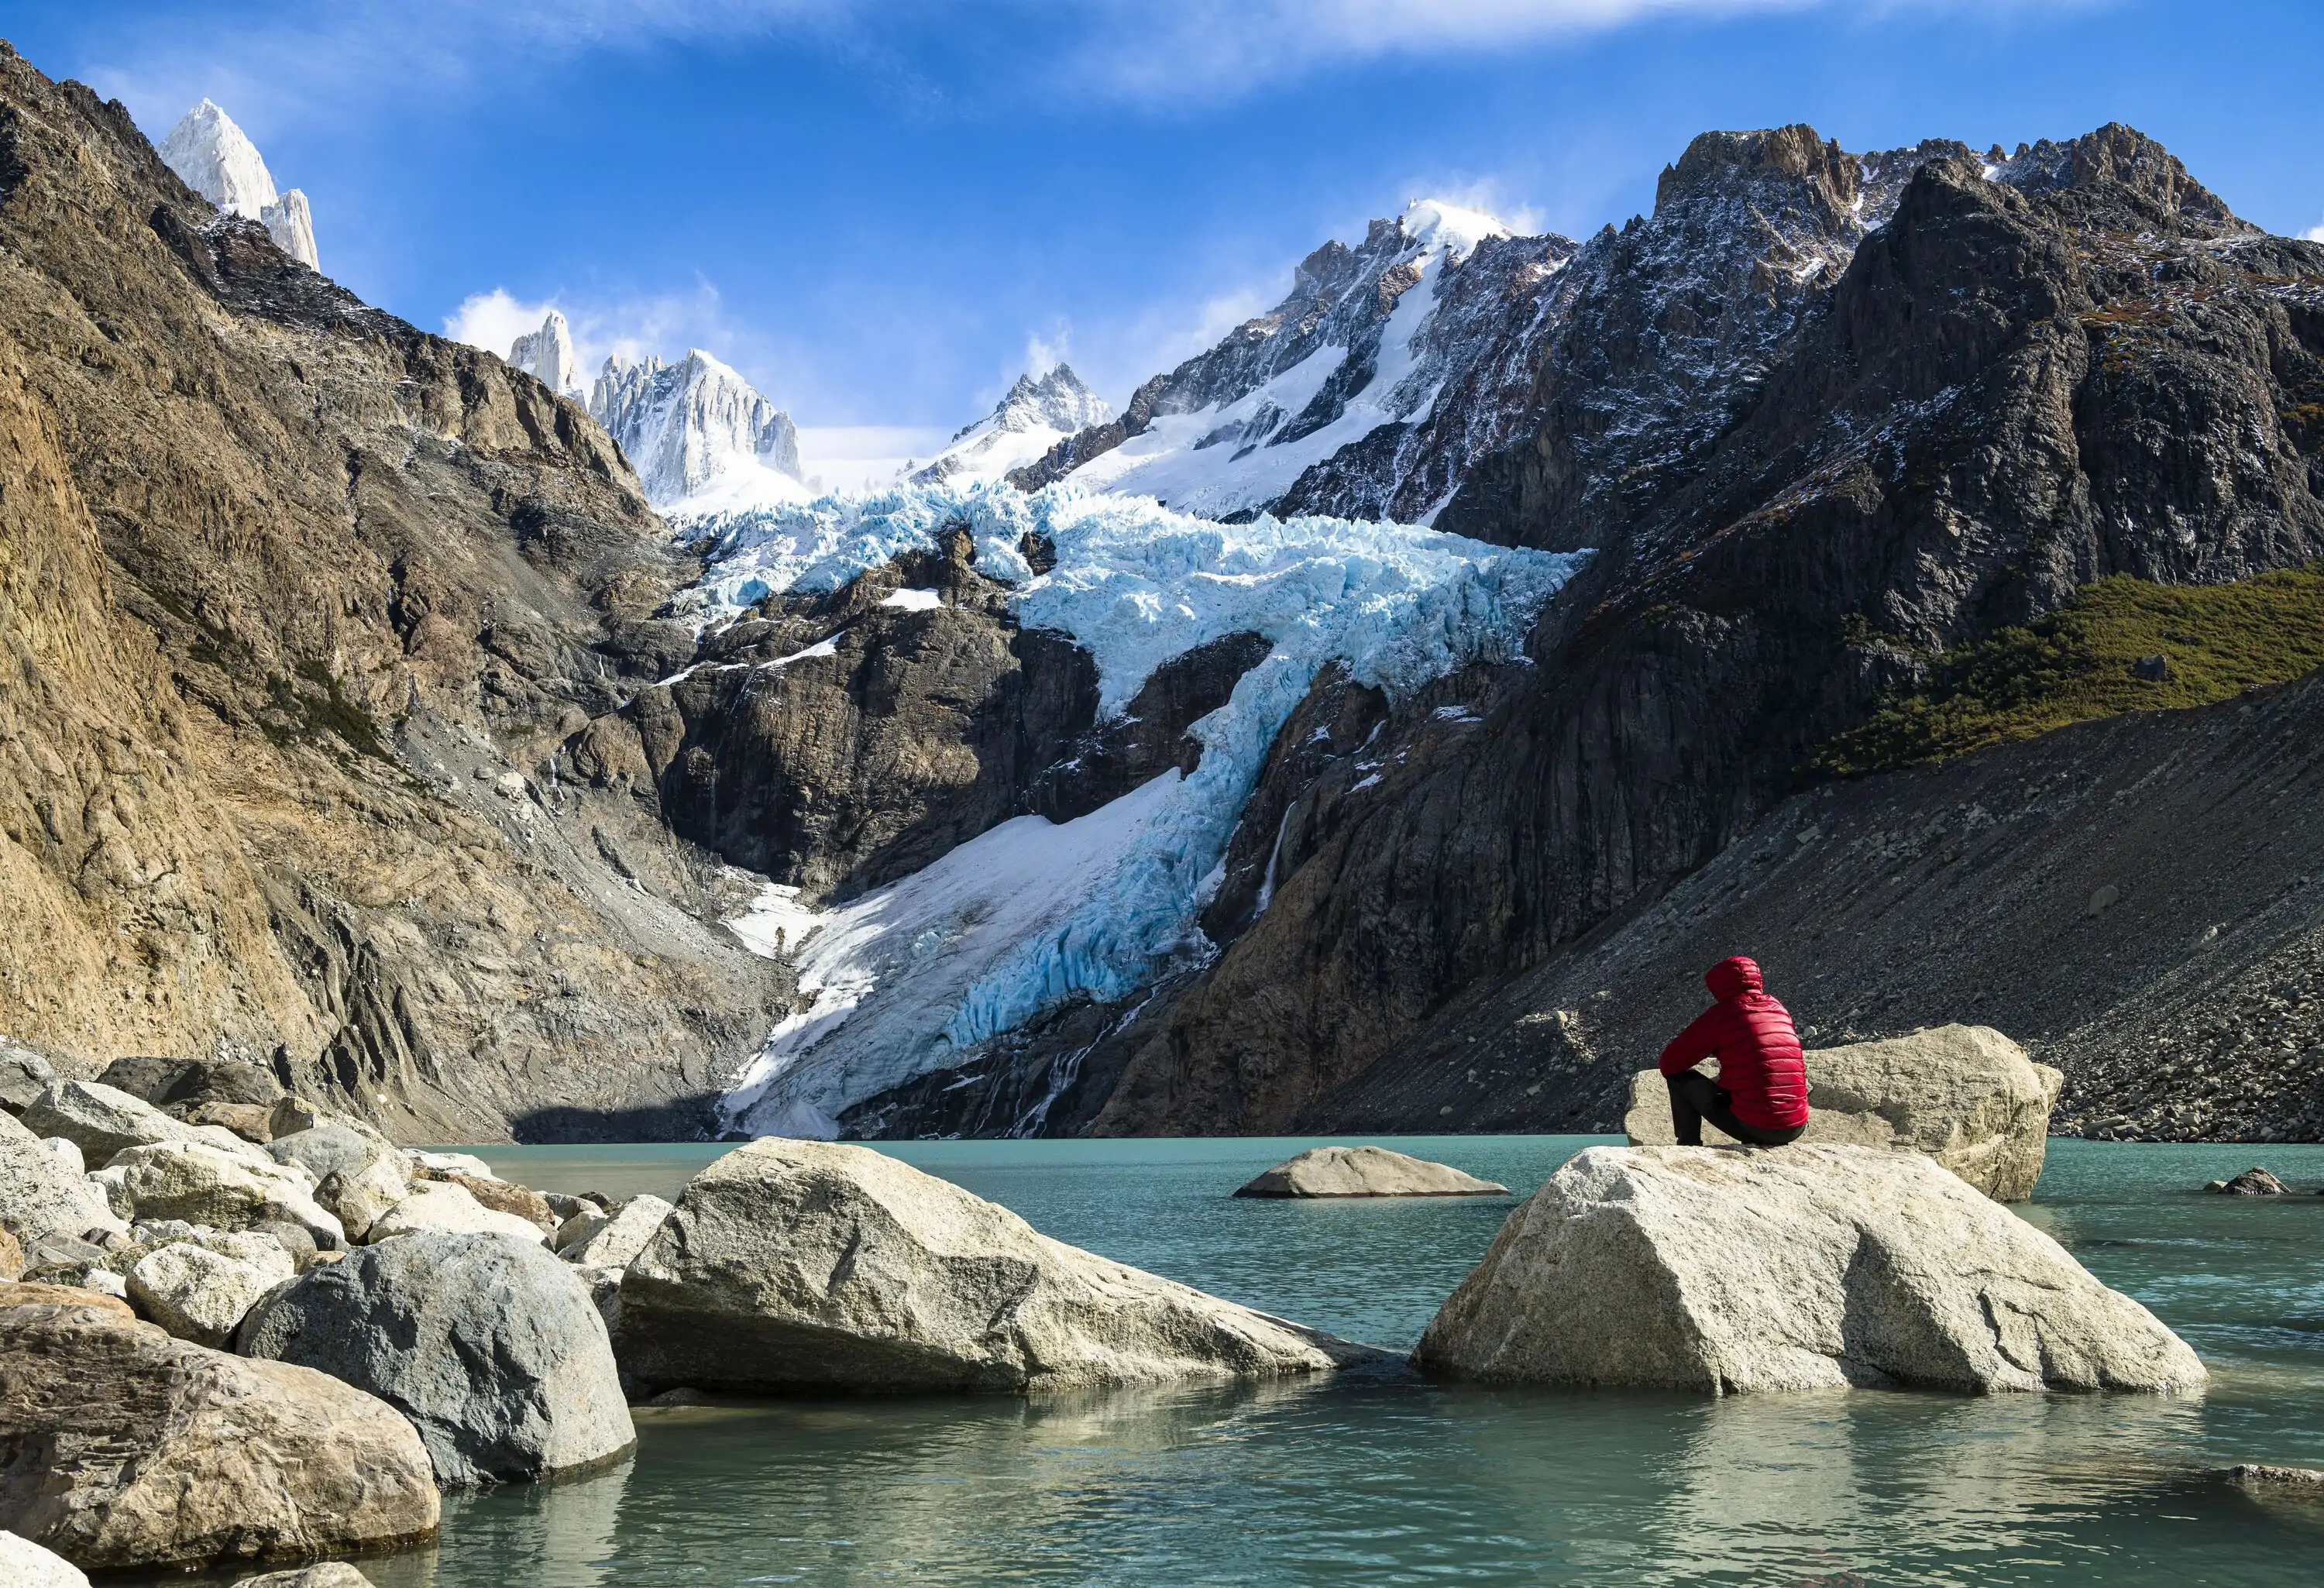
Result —
[[1573, 249], [1413, 200], [1353, 249], [1327, 242], [1271, 314], [1011, 479], [1069, 477], [1215, 516], [1299, 502], [1427, 521], [1522, 412], [1543, 307]]

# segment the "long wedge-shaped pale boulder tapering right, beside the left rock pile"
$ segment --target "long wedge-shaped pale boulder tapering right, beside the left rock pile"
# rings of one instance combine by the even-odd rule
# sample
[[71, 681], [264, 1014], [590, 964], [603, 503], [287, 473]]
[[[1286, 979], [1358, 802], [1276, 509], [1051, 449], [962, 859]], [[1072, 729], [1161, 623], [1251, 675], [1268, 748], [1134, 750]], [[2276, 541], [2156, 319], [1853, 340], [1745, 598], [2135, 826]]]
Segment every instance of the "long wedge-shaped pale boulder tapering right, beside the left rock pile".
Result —
[[1322, 1372], [1376, 1353], [1078, 1251], [865, 1146], [702, 1169], [621, 1283], [632, 1386], [1053, 1390]]

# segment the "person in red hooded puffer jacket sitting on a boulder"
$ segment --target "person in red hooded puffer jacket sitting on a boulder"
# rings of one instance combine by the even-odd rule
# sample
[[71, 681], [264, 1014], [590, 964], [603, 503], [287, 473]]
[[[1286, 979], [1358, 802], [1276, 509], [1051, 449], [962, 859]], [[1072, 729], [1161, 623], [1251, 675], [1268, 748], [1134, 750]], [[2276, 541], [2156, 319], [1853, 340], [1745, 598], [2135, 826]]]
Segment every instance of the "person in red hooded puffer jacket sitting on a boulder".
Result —
[[[1662, 1051], [1678, 1144], [1701, 1146], [1706, 1118], [1750, 1146], [1796, 1142], [1808, 1128], [1808, 1070], [1792, 1011], [1766, 993], [1759, 965], [1741, 953], [1713, 965], [1703, 983], [1720, 1002]], [[1717, 1081], [1694, 1067], [1713, 1053]]]

